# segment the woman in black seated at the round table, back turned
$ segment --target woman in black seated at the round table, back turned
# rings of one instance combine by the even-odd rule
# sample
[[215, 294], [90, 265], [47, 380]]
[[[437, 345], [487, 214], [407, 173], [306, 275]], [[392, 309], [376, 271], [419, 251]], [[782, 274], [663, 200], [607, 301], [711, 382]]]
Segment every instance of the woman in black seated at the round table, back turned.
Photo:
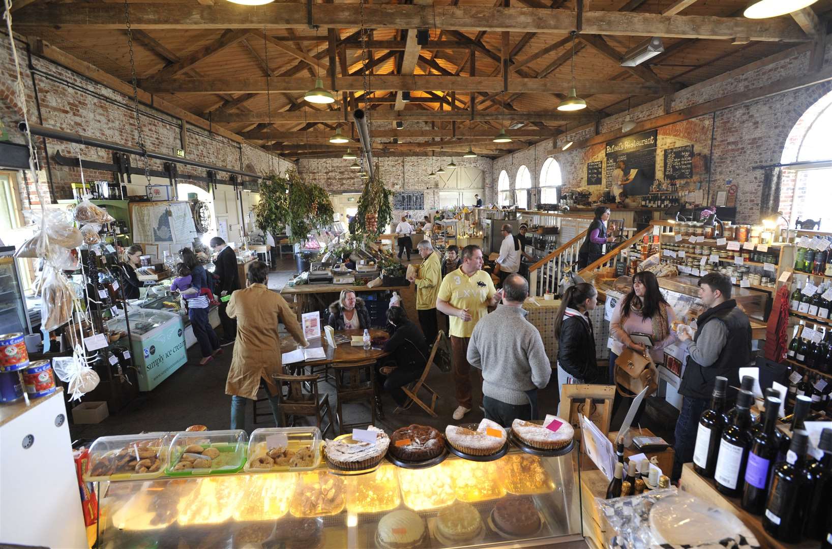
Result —
[[[387, 323], [390, 339], [384, 342], [384, 351], [391, 354], [392, 365], [379, 369], [378, 383], [390, 393], [396, 404], [404, 406], [407, 395], [402, 386], [418, 379], [428, 362], [428, 343], [422, 330], [408, 318], [402, 307], [387, 309]], [[381, 412], [381, 403], [376, 398], [376, 407]], [[383, 413], [379, 414], [384, 416]]]

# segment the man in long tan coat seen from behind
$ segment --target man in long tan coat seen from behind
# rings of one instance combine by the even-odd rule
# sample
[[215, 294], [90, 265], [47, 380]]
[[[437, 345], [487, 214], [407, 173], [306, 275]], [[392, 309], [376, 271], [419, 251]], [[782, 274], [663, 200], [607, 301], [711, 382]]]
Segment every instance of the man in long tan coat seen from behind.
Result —
[[256, 400], [260, 386], [269, 398], [275, 424], [283, 427], [277, 412], [280, 388], [271, 378], [282, 366], [277, 324], [282, 322], [298, 344], [306, 347], [309, 343], [285, 299], [266, 286], [269, 266], [255, 261], [245, 278], [245, 289], [231, 294], [226, 309], [228, 316], [237, 320], [234, 355], [225, 381], [225, 394], [231, 395], [231, 428], [245, 428], [245, 405]]

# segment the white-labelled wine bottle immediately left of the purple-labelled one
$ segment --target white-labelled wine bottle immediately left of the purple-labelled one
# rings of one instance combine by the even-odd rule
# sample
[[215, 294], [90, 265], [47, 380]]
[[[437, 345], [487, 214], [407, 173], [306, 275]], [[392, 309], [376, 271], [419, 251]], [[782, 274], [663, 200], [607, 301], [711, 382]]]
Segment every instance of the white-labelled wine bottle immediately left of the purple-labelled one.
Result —
[[742, 493], [745, 482], [745, 462], [751, 446], [751, 403], [754, 395], [750, 391], [740, 391], [736, 398], [734, 422], [722, 431], [720, 454], [716, 458], [716, 489], [726, 496], [734, 497]]

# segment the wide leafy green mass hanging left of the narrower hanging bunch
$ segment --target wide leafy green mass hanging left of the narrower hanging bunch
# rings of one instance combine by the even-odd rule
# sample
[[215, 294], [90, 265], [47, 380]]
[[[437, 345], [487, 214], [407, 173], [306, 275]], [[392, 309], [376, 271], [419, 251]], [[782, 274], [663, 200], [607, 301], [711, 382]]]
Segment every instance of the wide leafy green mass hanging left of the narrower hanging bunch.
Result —
[[295, 170], [285, 176], [265, 176], [254, 211], [257, 226], [280, 235], [289, 225], [291, 240], [295, 242], [306, 240], [314, 230], [331, 224], [335, 215], [326, 190], [303, 181]]

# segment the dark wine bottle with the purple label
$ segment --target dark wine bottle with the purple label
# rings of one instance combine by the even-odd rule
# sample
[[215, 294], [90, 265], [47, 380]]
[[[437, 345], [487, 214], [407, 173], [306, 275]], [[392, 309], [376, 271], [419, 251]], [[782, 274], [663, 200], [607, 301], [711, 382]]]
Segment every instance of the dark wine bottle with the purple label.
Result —
[[748, 463], [745, 466], [745, 488], [742, 491], [742, 508], [759, 515], [765, 509], [765, 497], [769, 488], [769, 473], [780, 450], [775, 439], [777, 413], [780, 398], [765, 399], [765, 427], [751, 441]]

